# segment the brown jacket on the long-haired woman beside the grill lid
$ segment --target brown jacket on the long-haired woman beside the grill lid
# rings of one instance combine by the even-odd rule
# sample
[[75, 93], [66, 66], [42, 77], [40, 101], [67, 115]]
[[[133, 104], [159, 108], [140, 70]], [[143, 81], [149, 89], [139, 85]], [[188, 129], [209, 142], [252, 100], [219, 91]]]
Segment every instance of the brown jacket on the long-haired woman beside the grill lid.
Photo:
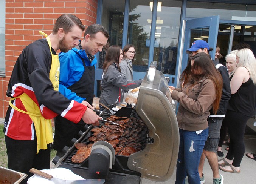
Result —
[[180, 103], [177, 113], [178, 126], [188, 131], [204, 130], [208, 127], [207, 118], [216, 98], [216, 90], [209, 78], [202, 78], [189, 89], [192, 82], [182, 89], [175, 88], [172, 91], [172, 99]]

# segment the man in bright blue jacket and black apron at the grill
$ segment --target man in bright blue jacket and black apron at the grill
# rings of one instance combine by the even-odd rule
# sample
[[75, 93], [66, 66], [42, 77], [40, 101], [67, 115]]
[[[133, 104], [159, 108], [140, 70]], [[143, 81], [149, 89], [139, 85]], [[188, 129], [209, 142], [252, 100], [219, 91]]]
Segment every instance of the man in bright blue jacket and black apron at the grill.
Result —
[[[79, 41], [78, 46], [67, 53], [59, 54], [61, 94], [92, 108], [97, 63], [95, 54], [102, 51], [108, 38], [109, 33], [106, 28], [93, 24], [85, 30], [84, 39]], [[76, 137], [83, 128], [83, 121], [74, 124], [61, 116], [56, 117], [53, 148], [58, 151], [58, 156], [63, 156], [62, 149], [69, 146], [72, 138]]]

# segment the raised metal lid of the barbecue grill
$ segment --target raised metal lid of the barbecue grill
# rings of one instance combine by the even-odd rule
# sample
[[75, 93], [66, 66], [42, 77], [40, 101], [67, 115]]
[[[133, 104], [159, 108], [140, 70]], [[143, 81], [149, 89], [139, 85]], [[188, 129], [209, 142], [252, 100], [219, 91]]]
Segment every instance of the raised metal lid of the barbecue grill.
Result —
[[138, 94], [136, 111], [149, 128], [152, 143], [129, 156], [129, 169], [153, 181], [171, 178], [178, 158], [179, 131], [169, 86], [156, 61], [144, 77]]

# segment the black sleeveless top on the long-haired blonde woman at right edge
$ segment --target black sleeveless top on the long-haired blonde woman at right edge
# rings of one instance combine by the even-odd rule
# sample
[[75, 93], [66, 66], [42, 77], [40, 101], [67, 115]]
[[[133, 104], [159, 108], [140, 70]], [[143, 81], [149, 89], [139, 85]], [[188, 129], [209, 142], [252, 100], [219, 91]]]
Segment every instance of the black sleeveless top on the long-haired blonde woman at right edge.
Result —
[[256, 86], [251, 78], [242, 83], [237, 92], [231, 95], [228, 110], [239, 112], [245, 116], [255, 116]]

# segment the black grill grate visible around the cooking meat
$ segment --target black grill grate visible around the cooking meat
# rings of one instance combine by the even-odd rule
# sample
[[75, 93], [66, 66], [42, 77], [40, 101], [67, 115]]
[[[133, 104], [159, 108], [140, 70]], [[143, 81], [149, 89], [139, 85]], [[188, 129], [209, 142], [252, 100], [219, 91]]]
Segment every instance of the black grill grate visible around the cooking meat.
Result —
[[[103, 116], [104, 119], [106, 119], [106, 117]], [[101, 126], [95, 126], [95, 127], [101, 127]], [[92, 144], [93, 142], [89, 141], [89, 138], [91, 136], [93, 136], [93, 132], [89, 131], [87, 135], [84, 137], [84, 139], [82, 139], [81, 143]], [[123, 135], [119, 138], [118, 146], [123, 146], [123, 147], [129, 146], [137, 150], [143, 150], [146, 146], [146, 143], [152, 143], [152, 142], [153, 142], [152, 138], [149, 137], [148, 127], [146, 126], [144, 121], [141, 119], [141, 117], [138, 115], [134, 107], [130, 115], [130, 119], [126, 124], [126, 128], [124, 129]], [[71, 152], [71, 154], [67, 156], [67, 159], [64, 160], [64, 162], [74, 164], [74, 165], [79, 165], [78, 163], [73, 163], [71, 160], [72, 156], [75, 155], [76, 152], [77, 152], [77, 149], [74, 148], [73, 152]]]

